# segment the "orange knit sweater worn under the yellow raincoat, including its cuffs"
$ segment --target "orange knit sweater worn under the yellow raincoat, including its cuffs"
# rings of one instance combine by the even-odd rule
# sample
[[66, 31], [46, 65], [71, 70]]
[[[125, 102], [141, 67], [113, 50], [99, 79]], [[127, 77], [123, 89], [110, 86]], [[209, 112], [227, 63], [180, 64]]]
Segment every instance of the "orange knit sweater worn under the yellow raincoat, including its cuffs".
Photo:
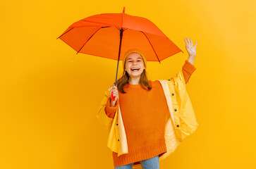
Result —
[[[195, 66], [185, 61], [185, 83], [194, 71]], [[139, 163], [138, 161], [166, 153], [164, 132], [169, 109], [160, 82], [150, 80], [150, 84], [152, 89], [147, 91], [140, 84], [128, 83], [123, 87], [126, 94], [118, 92], [116, 106], [110, 106], [110, 97], [107, 101], [105, 112], [109, 118], [114, 118], [120, 104], [128, 144], [128, 154], [118, 157], [113, 152], [114, 166]]]

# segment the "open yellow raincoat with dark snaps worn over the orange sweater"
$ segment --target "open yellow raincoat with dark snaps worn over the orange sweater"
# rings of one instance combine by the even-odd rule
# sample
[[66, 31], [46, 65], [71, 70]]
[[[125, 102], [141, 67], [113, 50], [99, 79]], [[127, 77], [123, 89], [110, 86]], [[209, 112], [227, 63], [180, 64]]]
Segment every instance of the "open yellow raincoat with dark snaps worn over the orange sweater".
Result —
[[[192, 134], [197, 129], [198, 123], [185, 87], [185, 79], [182, 70], [176, 74], [176, 77], [172, 77], [169, 80], [159, 80], [159, 82], [164, 90], [169, 108], [165, 125], [167, 152], [159, 157], [160, 162], [169, 156], [185, 137], [188, 137], [188, 135]], [[123, 125], [120, 106], [118, 106], [116, 110], [114, 119], [109, 118], [105, 113], [106, 101], [110, 97], [109, 89], [104, 93], [104, 98], [97, 112], [97, 119], [109, 134], [107, 146], [111, 151], [121, 156], [122, 154], [128, 154], [126, 131]], [[141, 164], [133, 165], [133, 169], [141, 168]]]

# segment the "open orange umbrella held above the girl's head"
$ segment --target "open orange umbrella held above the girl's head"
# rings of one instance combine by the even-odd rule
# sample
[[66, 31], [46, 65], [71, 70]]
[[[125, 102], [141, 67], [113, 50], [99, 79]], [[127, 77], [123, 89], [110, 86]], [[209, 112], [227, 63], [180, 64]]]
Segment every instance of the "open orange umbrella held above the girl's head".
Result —
[[118, 63], [122, 61], [120, 55], [131, 48], [140, 49], [147, 61], [159, 63], [181, 51], [154, 23], [147, 18], [126, 14], [125, 7], [123, 13], [102, 13], [79, 20], [57, 39], [78, 53], [111, 58]]

